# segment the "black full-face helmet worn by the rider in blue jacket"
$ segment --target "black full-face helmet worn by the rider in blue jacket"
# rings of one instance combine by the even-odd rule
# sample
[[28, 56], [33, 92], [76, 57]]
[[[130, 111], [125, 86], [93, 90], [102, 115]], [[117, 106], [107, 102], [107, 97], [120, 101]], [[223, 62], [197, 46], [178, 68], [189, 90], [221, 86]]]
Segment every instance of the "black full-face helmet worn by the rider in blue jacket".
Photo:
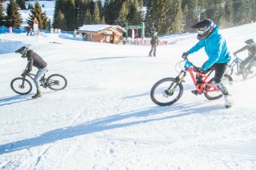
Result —
[[214, 29], [214, 22], [210, 19], [205, 19], [202, 22], [196, 23], [194, 26], [191, 26], [193, 29], [198, 30], [198, 40], [202, 40], [203, 38], [207, 38]]

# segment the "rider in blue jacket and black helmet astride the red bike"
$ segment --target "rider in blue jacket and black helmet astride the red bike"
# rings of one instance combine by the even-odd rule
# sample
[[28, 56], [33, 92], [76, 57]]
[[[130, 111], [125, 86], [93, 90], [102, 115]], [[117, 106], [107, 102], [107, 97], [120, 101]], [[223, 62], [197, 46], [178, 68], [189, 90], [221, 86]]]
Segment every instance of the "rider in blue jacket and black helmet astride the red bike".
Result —
[[[202, 68], [199, 68], [199, 71], [207, 73], [210, 67], [215, 69], [214, 85], [216, 85], [223, 93], [226, 108], [230, 108], [233, 102], [230, 98], [230, 93], [222, 84], [222, 77], [224, 76], [228, 62], [231, 59], [230, 51], [226, 46], [226, 40], [219, 33], [219, 27], [210, 19], [198, 22], [194, 26], [191, 26], [191, 28], [198, 30], [197, 38], [199, 42], [190, 50], [182, 53], [182, 58], [186, 58], [189, 54], [197, 52], [203, 47], [205, 48], [209, 59], [202, 65]], [[202, 81], [202, 78], [198, 77], [198, 84], [200, 84], [200, 81]], [[199, 94], [197, 90], [192, 90], [192, 93], [196, 95]]]

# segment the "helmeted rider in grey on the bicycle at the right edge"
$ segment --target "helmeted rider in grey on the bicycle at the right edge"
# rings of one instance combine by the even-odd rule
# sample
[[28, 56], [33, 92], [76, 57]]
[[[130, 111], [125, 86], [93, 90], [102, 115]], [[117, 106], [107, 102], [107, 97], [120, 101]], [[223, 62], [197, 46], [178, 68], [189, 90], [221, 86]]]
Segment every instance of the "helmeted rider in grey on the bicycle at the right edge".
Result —
[[246, 65], [248, 65], [248, 67], [250, 68], [252, 65], [255, 64], [256, 61], [256, 45], [253, 39], [249, 39], [246, 40], [246, 45], [244, 47], [242, 47], [242, 49], [238, 49], [236, 52], [234, 52], [234, 55], [236, 55], [237, 53], [240, 53], [244, 50], [248, 50], [248, 57], [246, 57], [246, 59], [244, 59], [240, 65], [239, 65], [239, 72], [237, 73], [237, 75], [240, 75], [243, 70], [246, 68]]

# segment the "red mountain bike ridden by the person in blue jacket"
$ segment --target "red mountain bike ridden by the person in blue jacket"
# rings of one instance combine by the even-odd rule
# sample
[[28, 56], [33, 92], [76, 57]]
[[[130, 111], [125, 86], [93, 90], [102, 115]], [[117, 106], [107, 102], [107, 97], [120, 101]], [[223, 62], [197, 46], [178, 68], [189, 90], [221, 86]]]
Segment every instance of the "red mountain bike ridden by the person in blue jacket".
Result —
[[[179, 63], [181, 63], [180, 61]], [[187, 58], [185, 59], [184, 69], [178, 73], [177, 77], [166, 77], [156, 82], [151, 91], [151, 100], [160, 106], [172, 105], [182, 97], [183, 85], [182, 82], [186, 77], [186, 73], [190, 73], [190, 76], [194, 82], [195, 88], [199, 93], [204, 93], [205, 97], [209, 100], [215, 100], [222, 97], [222, 92], [216, 85], [213, 84], [214, 78], [210, 77], [210, 74], [214, 72], [214, 69], [210, 69], [210, 72], [206, 74], [199, 73], [198, 67], [193, 65]], [[197, 83], [195, 75], [202, 76], [202, 82]], [[210, 79], [210, 80], [208, 80]], [[229, 75], [224, 75], [222, 83], [224, 85], [232, 85], [233, 79]]]

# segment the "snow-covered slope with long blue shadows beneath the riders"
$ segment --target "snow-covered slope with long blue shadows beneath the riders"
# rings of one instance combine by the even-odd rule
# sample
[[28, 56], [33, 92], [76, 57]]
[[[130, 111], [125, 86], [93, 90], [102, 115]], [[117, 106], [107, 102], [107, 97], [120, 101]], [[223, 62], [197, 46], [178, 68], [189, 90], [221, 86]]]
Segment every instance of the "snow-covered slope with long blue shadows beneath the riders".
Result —
[[[221, 30], [232, 53], [256, 40], [255, 27]], [[175, 65], [198, 42], [196, 34], [162, 38], [170, 45], [158, 46], [157, 57], [147, 57], [148, 45], [81, 39], [0, 34], [0, 169], [256, 169], [255, 77], [233, 76], [231, 109], [223, 99], [190, 93], [189, 76], [180, 101], [160, 107], [150, 89], [177, 75]], [[64, 75], [66, 89], [42, 89], [37, 100], [30, 99], [35, 88], [14, 93], [10, 81], [26, 67], [14, 53], [22, 45], [48, 62], [47, 75]], [[202, 65], [204, 50], [190, 60]]]

